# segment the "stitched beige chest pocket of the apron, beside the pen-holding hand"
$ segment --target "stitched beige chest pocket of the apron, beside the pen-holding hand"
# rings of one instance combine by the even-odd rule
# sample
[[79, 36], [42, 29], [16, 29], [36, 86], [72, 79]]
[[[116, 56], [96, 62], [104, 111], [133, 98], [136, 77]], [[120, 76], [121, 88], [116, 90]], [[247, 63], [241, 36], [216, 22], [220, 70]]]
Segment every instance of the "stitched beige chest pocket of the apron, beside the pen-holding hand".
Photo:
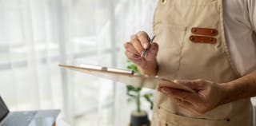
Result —
[[175, 77], [181, 60], [183, 40], [186, 33], [184, 26], [157, 25], [155, 28], [158, 42], [158, 76], [168, 79]]

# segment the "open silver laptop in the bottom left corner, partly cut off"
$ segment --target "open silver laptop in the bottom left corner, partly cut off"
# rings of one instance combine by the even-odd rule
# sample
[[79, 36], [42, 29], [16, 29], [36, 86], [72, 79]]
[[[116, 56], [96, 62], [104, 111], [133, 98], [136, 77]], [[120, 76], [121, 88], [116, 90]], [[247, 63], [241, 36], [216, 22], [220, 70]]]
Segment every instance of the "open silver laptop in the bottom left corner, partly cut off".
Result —
[[60, 110], [10, 112], [0, 96], [0, 126], [52, 126]]

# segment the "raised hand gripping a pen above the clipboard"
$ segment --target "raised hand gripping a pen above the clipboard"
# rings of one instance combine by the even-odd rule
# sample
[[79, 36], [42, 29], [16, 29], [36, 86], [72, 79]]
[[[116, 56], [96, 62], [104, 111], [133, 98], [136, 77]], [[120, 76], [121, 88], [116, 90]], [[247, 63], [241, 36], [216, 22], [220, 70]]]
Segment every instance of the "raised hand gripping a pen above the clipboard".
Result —
[[[126, 57], [138, 66], [143, 75], [155, 76], [157, 74], [158, 44], [150, 43], [150, 37], [146, 32], [140, 31], [130, 37], [130, 41], [124, 44]], [[147, 49], [146, 57], [142, 57], [142, 51]]]

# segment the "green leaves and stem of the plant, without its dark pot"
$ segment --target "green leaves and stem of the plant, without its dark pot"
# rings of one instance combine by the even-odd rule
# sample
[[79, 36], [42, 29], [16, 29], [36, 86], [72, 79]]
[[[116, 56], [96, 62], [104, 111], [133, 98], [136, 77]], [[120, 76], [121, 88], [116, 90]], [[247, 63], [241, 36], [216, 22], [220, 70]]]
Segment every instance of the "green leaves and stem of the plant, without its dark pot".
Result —
[[[131, 69], [135, 74], [140, 74], [138, 68], [130, 60], [127, 60], [127, 69]], [[129, 100], [135, 100], [137, 112], [141, 112], [141, 97], [145, 98], [150, 103], [150, 109], [153, 109], [153, 93], [145, 93], [142, 95], [142, 87], [134, 87], [132, 85], [126, 86], [126, 94], [130, 96]]]

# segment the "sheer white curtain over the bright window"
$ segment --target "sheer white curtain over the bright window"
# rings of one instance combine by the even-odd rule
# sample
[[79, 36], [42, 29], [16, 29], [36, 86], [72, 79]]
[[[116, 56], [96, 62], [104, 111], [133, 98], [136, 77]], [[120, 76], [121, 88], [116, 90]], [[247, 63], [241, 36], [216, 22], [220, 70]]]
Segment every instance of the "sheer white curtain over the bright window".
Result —
[[125, 68], [122, 45], [152, 36], [156, 1], [0, 0], [0, 95], [12, 111], [61, 108], [71, 125], [127, 125], [125, 85], [58, 64]]

